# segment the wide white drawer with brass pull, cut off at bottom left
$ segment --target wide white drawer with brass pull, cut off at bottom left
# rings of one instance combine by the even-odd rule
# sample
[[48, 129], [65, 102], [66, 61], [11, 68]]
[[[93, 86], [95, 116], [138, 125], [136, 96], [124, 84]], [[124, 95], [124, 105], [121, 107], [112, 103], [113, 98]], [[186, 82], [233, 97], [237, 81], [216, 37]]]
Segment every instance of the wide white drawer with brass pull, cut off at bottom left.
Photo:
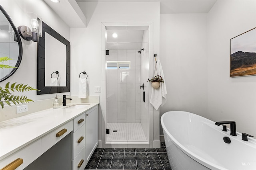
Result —
[[20, 164], [20, 166], [18, 166], [15, 170], [23, 170], [26, 166], [28, 166], [34, 160], [36, 160], [36, 158], [41, 156], [41, 154], [42, 154], [41, 145], [42, 145], [41, 138], [30, 143], [26, 147], [18, 150], [17, 152], [14, 152], [13, 154], [11, 154], [10, 156], [7, 156], [4, 159], [0, 160], [0, 168], [4, 168], [6, 165], [8, 165], [11, 162], [13, 162], [14, 160], [17, 160], [18, 158], [20, 158], [19, 160], [16, 161], [17, 164], [15, 167], [17, 167], [19, 164]]

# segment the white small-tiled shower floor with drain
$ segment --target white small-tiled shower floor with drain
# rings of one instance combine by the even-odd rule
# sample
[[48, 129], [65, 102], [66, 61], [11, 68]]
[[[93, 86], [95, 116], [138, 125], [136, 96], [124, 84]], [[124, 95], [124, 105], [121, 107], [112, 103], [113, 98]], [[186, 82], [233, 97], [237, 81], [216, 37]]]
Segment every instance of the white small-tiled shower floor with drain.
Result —
[[140, 123], [107, 123], [107, 141], [147, 141]]

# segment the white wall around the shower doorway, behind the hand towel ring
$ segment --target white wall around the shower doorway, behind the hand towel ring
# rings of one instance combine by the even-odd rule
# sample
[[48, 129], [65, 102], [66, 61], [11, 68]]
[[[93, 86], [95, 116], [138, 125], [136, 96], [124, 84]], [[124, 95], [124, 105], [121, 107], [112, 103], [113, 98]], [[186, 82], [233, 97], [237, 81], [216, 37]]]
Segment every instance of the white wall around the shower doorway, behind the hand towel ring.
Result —
[[[86, 71], [89, 77], [88, 95], [100, 95], [99, 140], [104, 143], [105, 95], [94, 92], [95, 86], [104, 84], [102, 80], [102, 22], [153, 22], [154, 52], [159, 51], [159, 2], [78, 2], [88, 21], [87, 28], [71, 28], [72, 54], [72, 95], [78, 94], [78, 75]], [[104, 35], [103, 35], [104, 36]], [[77, 76], [76, 76], [77, 75]], [[103, 88], [103, 87], [102, 87]], [[101, 110], [103, 109], [103, 110]], [[159, 119], [159, 113], [156, 113]], [[158, 126], [154, 126], [159, 129]], [[158, 130], [159, 131], [159, 130]], [[159, 135], [158, 135], [159, 140]]]

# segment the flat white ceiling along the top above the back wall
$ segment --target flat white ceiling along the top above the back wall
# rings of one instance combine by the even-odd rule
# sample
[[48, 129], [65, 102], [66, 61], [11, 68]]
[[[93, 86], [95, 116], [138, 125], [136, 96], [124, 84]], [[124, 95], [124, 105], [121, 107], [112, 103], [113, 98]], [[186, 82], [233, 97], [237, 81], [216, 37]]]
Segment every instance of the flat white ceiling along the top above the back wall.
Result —
[[208, 13], [217, 0], [76, 0], [76, 2], [160, 2], [160, 14]]

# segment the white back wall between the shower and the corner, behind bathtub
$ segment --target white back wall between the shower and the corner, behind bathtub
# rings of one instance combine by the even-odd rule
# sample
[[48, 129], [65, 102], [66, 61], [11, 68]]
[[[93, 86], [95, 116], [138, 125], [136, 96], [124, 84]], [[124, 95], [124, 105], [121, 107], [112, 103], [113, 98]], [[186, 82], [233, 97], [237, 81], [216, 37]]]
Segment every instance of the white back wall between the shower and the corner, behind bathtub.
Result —
[[207, 14], [160, 14], [160, 61], [167, 88], [160, 116], [182, 110], [207, 117]]

